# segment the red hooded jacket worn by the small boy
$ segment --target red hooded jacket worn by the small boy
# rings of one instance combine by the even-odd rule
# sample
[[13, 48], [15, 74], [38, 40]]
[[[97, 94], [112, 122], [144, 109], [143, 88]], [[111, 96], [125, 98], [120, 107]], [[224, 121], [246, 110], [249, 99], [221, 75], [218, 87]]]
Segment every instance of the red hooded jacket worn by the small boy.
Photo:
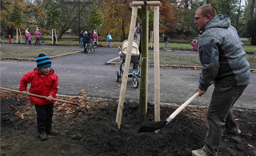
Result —
[[[21, 85], [19, 90], [27, 90], [28, 83], [31, 83], [29, 93], [43, 95], [45, 97], [52, 95], [53, 98], [56, 98], [56, 93], [58, 91], [58, 76], [54, 73], [53, 69], [51, 69], [48, 74], [41, 73], [38, 68], [24, 74], [20, 82]], [[29, 96], [29, 99], [32, 104], [38, 105], [45, 105], [53, 102], [53, 100], [33, 96]]]

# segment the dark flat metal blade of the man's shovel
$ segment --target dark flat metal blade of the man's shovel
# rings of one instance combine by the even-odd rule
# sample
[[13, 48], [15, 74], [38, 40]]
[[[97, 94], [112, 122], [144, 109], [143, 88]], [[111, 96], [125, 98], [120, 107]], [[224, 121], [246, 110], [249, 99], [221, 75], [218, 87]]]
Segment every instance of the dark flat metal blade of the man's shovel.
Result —
[[155, 123], [144, 123], [141, 125], [137, 133], [154, 132], [155, 130], [165, 127], [166, 123], [166, 120], [161, 120]]

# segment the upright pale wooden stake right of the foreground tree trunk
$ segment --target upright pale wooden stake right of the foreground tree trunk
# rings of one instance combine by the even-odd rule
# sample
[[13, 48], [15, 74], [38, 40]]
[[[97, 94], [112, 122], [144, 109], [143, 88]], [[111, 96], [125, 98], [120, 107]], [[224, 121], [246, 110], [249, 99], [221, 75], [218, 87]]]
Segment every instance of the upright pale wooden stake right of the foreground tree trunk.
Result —
[[154, 7], [155, 122], [160, 121], [159, 6]]

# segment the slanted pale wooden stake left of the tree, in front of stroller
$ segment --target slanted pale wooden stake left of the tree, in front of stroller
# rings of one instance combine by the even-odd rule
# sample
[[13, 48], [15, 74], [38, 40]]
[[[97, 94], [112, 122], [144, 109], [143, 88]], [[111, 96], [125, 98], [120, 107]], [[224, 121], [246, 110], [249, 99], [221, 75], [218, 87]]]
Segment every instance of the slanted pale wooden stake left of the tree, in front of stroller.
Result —
[[124, 74], [122, 76], [122, 84], [121, 84], [121, 90], [120, 90], [120, 95], [119, 95], [119, 103], [118, 103], [118, 108], [117, 108], [117, 113], [116, 113], [116, 124], [117, 124], [117, 128], [119, 128], [119, 129], [120, 129], [120, 125], [121, 125], [122, 110], [124, 109], [125, 92], [126, 92], [127, 77], [128, 77], [129, 67], [130, 67], [130, 62], [131, 62], [132, 43], [134, 42], [134, 32], [135, 32], [135, 26], [136, 26], [137, 10], [138, 10], [138, 7], [132, 7], [131, 24], [130, 24], [130, 31], [129, 31], [129, 37], [128, 37], [128, 47], [127, 47], [127, 53], [126, 53], [126, 58], [125, 58], [125, 68], [124, 68]]

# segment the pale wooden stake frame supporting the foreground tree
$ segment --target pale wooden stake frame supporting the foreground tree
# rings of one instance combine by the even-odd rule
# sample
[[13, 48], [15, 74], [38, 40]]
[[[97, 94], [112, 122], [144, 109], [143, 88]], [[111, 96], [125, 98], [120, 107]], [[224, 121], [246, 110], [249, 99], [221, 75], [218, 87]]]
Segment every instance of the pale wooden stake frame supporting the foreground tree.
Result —
[[[146, 22], [146, 32], [148, 32], [149, 29], [149, 6], [152, 6], [154, 9], [154, 79], [155, 79], [155, 122], [160, 121], [160, 64], [159, 64], [159, 7], [161, 6], [160, 1], [144, 1], [144, 2], [132, 2], [132, 13], [131, 13], [131, 23], [130, 23], [130, 31], [129, 31], [129, 38], [128, 38], [128, 46], [127, 46], [127, 53], [125, 62], [131, 61], [131, 51], [132, 51], [132, 43], [134, 40], [134, 33], [135, 33], [135, 26], [136, 26], [136, 18], [137, 18], [137, 10], [139, 7], [145, 7], [146, 6], [146, 17], [142, 16], [142, 19], [145, 18]], [[143, 23], [143, 22], [142, 22]], [[143, 27], [143, 24], [142, 24]], [[144, 28], [142, 28], [143, 30]], [[146, 52], [148, 51], [148, 34], [146, 34], [145, 38], [142, 38], [146, 42]], [[143, 51], [143, 49], [142, 49]], [[148, 54], [148, 52], [147, 52]], [[147, 65], [148, 65], [148, 59], [147, 57], [142, 58], [142, 61], [146, 61], [146, 75], [145, 75], [145, 110], [147, 109]], [[119, 104], [117, 108], [117, 114], [116, 114], [116, 125], [117, 128], [120, 129], [121, 125], [121, 118], [122, 118], [122, 110], [124, 109], [124, 99], [125, 99], [125, 92], [126, 92], [126, 85], [127, 85], [127, 77], [129, 74], [129, 63], [125, 64], [124, 67], [124, 73], [122, 78], [122, 84], [121, 84], [121, 90], [120, 90], [120, 96], [119, 96]], [[142, 72], [141, 72], [142, 77]], [[146, 114], [146, 112], [145, 112]]]

